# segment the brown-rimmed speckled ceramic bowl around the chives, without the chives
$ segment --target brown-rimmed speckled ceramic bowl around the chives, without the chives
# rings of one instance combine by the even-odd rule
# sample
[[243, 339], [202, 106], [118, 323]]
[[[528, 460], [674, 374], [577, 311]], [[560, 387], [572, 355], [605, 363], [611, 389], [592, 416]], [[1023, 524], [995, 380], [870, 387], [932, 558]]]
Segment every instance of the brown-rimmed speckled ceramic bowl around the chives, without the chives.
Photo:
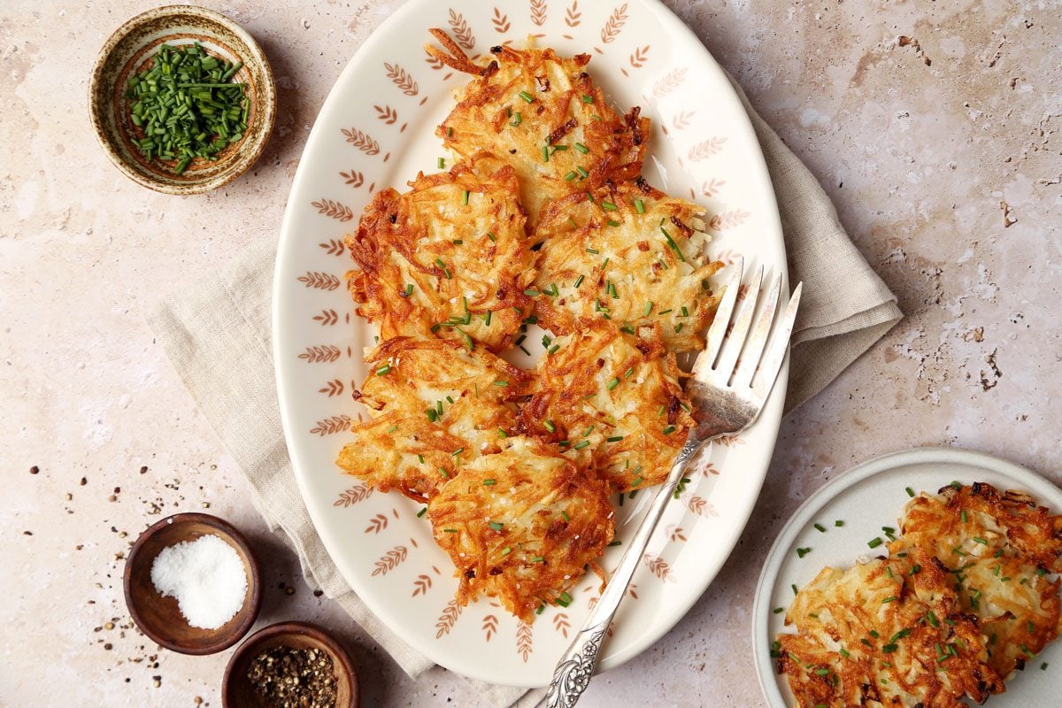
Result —
[[[150, 65], [159, 45], [193, 41], [220, 59], [243, 62], [233, 81], [244, 84], [249, 98], [247, 129], [218, 160], [194, 159], [177, 174], [176, 160], [149, 162], [130, 141], [137, 134], [124, 94], [129, 77]], [[110, 160], [133, 182], [167, 194], [208, 192], [243, 174], [261, 156], [276, 115], [273, 72], [258, 42], [224, 15], [193, 5], [155, 7], [118, 28], [97, 56], [88, 99], [92, 128]]]

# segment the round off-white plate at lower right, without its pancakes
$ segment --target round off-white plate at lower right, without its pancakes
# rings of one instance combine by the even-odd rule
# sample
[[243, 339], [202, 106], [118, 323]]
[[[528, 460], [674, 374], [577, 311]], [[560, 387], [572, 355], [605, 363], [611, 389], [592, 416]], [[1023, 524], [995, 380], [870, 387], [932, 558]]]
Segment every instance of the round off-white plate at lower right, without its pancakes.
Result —
[[[808, 497], [783, 528], [764, 565], [753, 602], [753, 653], [759, 685], [771, 708], [793, 706], [785, 676], [775, 672], [770, 644], [785, 628], [792, 585], [802, 588], [825, 566], [847, 568], [860, 556], [876, 553], [867, 546], [881, 537], [881, 526], [897, 526], [904, 505], [915, 494], [936, 493], [953, 481], [987, 482], [999, 489], [1030, 494], [1042, 506], [1062, 513], [1062, 489], [1013, 463], [981, 452], [954, 448], [915, 448], [876, 457], [835, 478]], [[835, 521], [844, 525], [838, 528]], [[826, 528], [822, 533], [815, 528]], [[810, 548], [803, 558], [798, 548]], [[1047, 671], [1040, 664], [1048, 663]], [[1043, 696], [1062, 690], [1062, 642], [1055, 642], [1030, 660], [1024, 672], [1007, 681], [1007, 691], [989, 698], [995, 708], [1043, 706]]]

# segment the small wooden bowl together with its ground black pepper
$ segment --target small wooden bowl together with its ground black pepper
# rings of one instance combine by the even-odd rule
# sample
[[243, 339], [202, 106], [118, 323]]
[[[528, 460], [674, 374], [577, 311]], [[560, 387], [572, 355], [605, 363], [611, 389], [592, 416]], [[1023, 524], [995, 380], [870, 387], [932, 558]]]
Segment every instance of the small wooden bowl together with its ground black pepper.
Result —
[[350, 655], [321, 627], [281, 622], [233, 654], [221, 690], [225, 708], [358, 708]]

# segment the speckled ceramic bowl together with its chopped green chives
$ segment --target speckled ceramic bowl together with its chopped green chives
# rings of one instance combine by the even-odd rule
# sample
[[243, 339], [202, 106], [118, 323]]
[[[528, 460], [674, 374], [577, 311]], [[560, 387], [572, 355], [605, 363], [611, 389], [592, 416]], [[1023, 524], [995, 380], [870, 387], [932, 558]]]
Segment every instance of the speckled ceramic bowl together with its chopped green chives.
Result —
[[89, 85], [89, 113], [110, 160], [167, 194], [225, 185], [261, 156], [276, 86], [258, 42], [220, 13], [169, 5], [107, 39]]

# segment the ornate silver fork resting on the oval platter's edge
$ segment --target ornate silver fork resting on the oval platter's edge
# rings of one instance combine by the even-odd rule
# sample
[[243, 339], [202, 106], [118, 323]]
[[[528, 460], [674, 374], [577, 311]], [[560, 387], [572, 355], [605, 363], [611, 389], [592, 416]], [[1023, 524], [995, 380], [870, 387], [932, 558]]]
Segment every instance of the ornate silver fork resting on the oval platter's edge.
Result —
[[[755, 422], [764, 409], [768, 394], [774, 386], [782, 362], [789, 349], [789, 336], [792, 333], [793, 320], [796, 317], [803, 283], [796, 286], [792, 297], [789, 298], [789, 304], [775, 327], [773, 342], [765, 355], [764, 350], [771, 334], [771, 323], [778, 305], [778, 295], [782, 292], [782, 278], [775, 277], [756, 326], [749, 335], [756, 301], [759, 299], [764, 269], [760, 266], [749, 283], [747, 291], [749, 295], [738, 306], [731, 329], [743, 267], [743, 260], [738, 261], [734, 274], [726, 283], [726, 291], [719, 303], [716, 318], [708, 328], [704, 351], [693, 363], [692, 377], [686, 384], [686, 395], [699, 412], [700, 424], [696, 430], [690, 431], [686, 445], [675, 457], [667, 480], [657, 489], [646, 518], [628, 543], [627, 552], [613, 572], [601, 599], [558, 662], [553, 680], [546, 694], [547, 708], [571, 708], [589, 685], [594, 664], [601, 649], [601, 640], [627, 593], [627, 586], [631, 583], [631, 576], [664, 513], [664, 507], [671, 499], [679, 480], [682, 479], [686, 463], [708, 441], [720, 435], [738, 433]], [[761, 357], [763, 362], [760, 362]]]

